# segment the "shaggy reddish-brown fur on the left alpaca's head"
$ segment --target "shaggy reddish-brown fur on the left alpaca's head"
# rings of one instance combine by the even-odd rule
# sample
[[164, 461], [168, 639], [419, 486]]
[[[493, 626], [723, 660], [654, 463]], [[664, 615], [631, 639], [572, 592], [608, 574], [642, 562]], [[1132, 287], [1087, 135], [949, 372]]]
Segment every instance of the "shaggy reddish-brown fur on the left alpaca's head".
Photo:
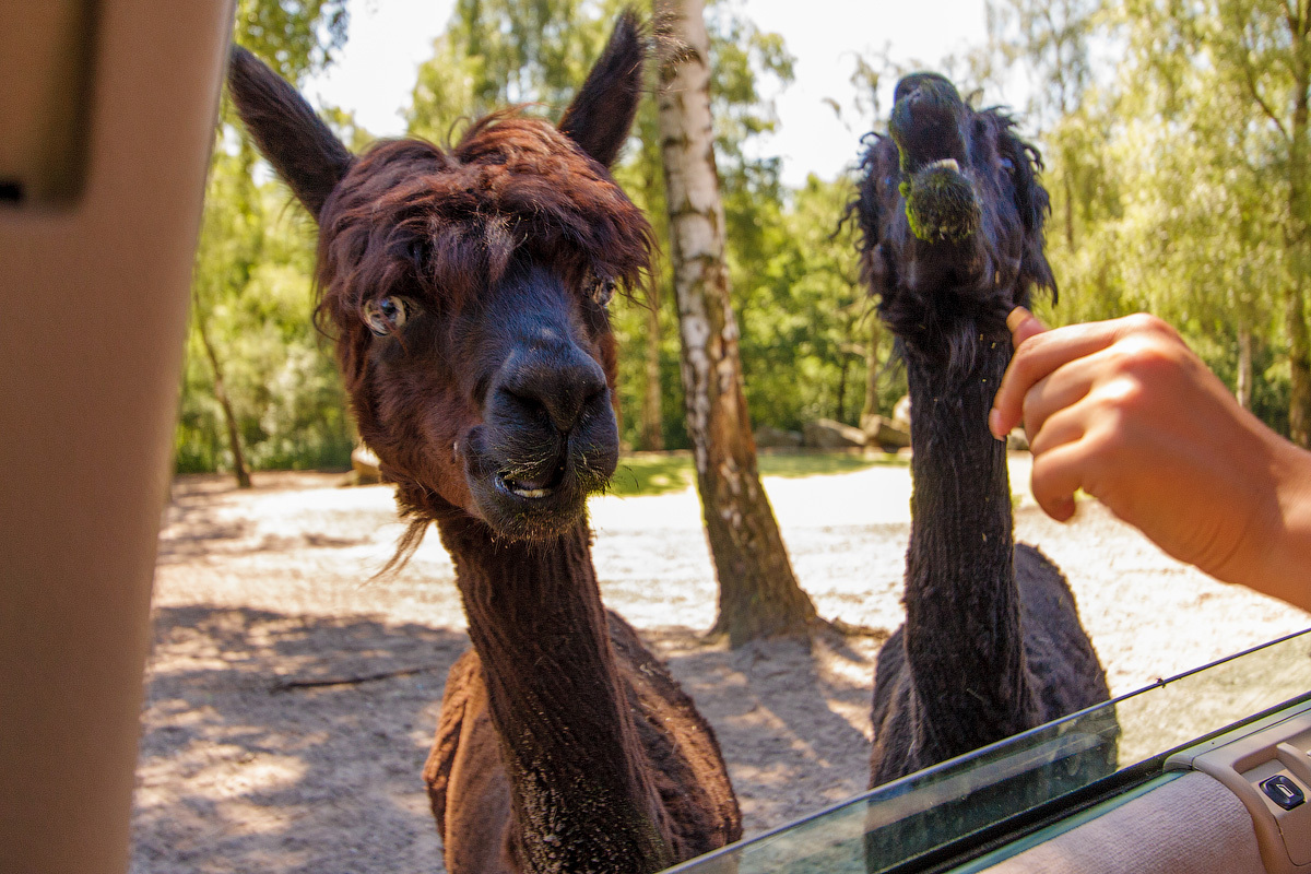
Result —
[[[320, 229], [320, 318], [338, 333], [361, 434], [399, 484], [402, 512], [420, 531], [430, 520], [460, 518], [469, 499], [464, 472], [447, 449], [482, 414], [477, 387], [440, 387], [499, 363], [485, 360], [494, 346], [464, 324], [471, 309], [473, 318], [488, 309], [484, 290], [526, 263], [551, 265], [565, 287], [585, 292], [587, 283], [633, 286], [652, 245], [650, 225], [604, 168], [545, 122], [510, 111], [476, 123], [451, 152], [417, 140], [379, 144], [328, 198]], [[364, 322], [366, 305], [392, 291], [455, 329], [439, 354], [405, 350], [427, 352], [429, 366], [416, 373], [422, 385], [395, 379], [395, 364], [408, 368], [408, 362], [380, 354]], [[579, 333], [614, 385], [617, 358], [606, 314], [582, 303], [581, 316], [597, 325]], [[421, 434], [401, 421], [416, 393], [438, 405], [429, 408]]]

